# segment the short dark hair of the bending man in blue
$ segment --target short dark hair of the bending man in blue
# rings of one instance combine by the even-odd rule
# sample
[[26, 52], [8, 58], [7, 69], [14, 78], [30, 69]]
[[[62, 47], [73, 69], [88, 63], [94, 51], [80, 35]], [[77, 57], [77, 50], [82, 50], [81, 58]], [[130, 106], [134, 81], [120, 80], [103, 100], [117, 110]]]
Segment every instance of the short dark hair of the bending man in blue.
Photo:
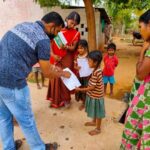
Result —
[[45, 23], [53, 22], [55, 23], [56, 26], [62, 25], [62, 27], [64, 27], [64, 21], [62, 17], [57, 12], [54, 11], [43, 16], [41, 20], [44, 21]]

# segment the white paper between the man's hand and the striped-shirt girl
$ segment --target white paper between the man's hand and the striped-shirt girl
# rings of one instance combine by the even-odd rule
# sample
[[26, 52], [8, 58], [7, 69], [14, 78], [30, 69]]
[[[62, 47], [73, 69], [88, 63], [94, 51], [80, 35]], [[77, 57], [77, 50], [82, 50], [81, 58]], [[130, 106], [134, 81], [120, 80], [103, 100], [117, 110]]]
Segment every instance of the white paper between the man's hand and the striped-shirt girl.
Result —
[[75, 76], [75, 74], [69, 68], [65, 68], [63, 70], [69, 71], [71, 73], [70, 78], [61, 77], [63, 83], [70, 91], [74, 90], [76, 87], [81, 86], [81, 83], [79, 82], [78, 78]]

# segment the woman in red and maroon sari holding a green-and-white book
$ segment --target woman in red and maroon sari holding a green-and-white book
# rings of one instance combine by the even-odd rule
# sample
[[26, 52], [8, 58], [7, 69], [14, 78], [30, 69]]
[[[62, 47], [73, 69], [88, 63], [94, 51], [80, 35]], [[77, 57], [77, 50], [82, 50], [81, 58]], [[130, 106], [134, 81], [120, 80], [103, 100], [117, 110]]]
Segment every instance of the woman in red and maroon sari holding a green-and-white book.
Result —
[[[77, 43], [80, 40], [80, 33], [74, 29], [80, 23], [80, 15], [77, 12], [71, 12], [66, 18], [67, 26], [61, 30], [67, 44], [58, 45], [57, 41], [53, 40], [52, 55], [50, 63], [61, 68], [69, 68], [73, 71], [74, 55], [76, 53]], [[71, 101], [71, 93], [61, 81], [60, 78], [52, 79], [49, 82], [47, 100], [51, 101], [51, 107], [58, 108], [62, 106], [69, 107]]]

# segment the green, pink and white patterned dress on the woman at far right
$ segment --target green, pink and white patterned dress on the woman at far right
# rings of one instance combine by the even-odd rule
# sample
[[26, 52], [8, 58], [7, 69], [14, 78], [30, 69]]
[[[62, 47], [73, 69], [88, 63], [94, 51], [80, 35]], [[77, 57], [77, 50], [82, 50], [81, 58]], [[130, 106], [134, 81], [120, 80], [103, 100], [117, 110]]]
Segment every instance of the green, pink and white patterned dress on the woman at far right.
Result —
[[132, 96], [120, 150], [150, 150], [150, 75], [132, 88]]

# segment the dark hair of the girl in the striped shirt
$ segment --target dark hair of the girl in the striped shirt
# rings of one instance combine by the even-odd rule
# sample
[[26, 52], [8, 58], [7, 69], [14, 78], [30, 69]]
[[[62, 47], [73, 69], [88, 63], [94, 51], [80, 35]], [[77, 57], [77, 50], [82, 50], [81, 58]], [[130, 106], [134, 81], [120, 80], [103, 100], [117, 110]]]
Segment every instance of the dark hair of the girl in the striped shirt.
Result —
[[99, 67], [102, 61], [102, 52], [100, 50], [94, 50], [89, 52], [88, 58], [92, 59], [94, 62], [97, 62], [96, 69]]

